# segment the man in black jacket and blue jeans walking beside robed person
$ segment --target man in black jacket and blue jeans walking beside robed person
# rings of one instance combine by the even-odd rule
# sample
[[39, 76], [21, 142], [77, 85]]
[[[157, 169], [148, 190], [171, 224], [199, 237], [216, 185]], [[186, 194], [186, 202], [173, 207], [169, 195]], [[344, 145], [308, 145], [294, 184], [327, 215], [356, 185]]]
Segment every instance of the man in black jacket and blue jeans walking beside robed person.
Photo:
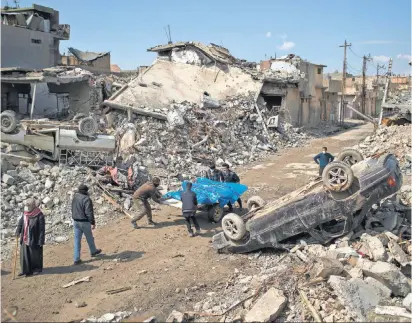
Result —
[[80, 250], [83, 233], [89, 245], [90, 254], [92, 257], [97, 256], [102, 252], [101, 249], [96, 249], [92, 230], [95, 229], [93, 203], [89, 196], [89, 188], [81, 184], [72, 200], [72, 219], [74, 228], [74, 264], [81, 263]]

